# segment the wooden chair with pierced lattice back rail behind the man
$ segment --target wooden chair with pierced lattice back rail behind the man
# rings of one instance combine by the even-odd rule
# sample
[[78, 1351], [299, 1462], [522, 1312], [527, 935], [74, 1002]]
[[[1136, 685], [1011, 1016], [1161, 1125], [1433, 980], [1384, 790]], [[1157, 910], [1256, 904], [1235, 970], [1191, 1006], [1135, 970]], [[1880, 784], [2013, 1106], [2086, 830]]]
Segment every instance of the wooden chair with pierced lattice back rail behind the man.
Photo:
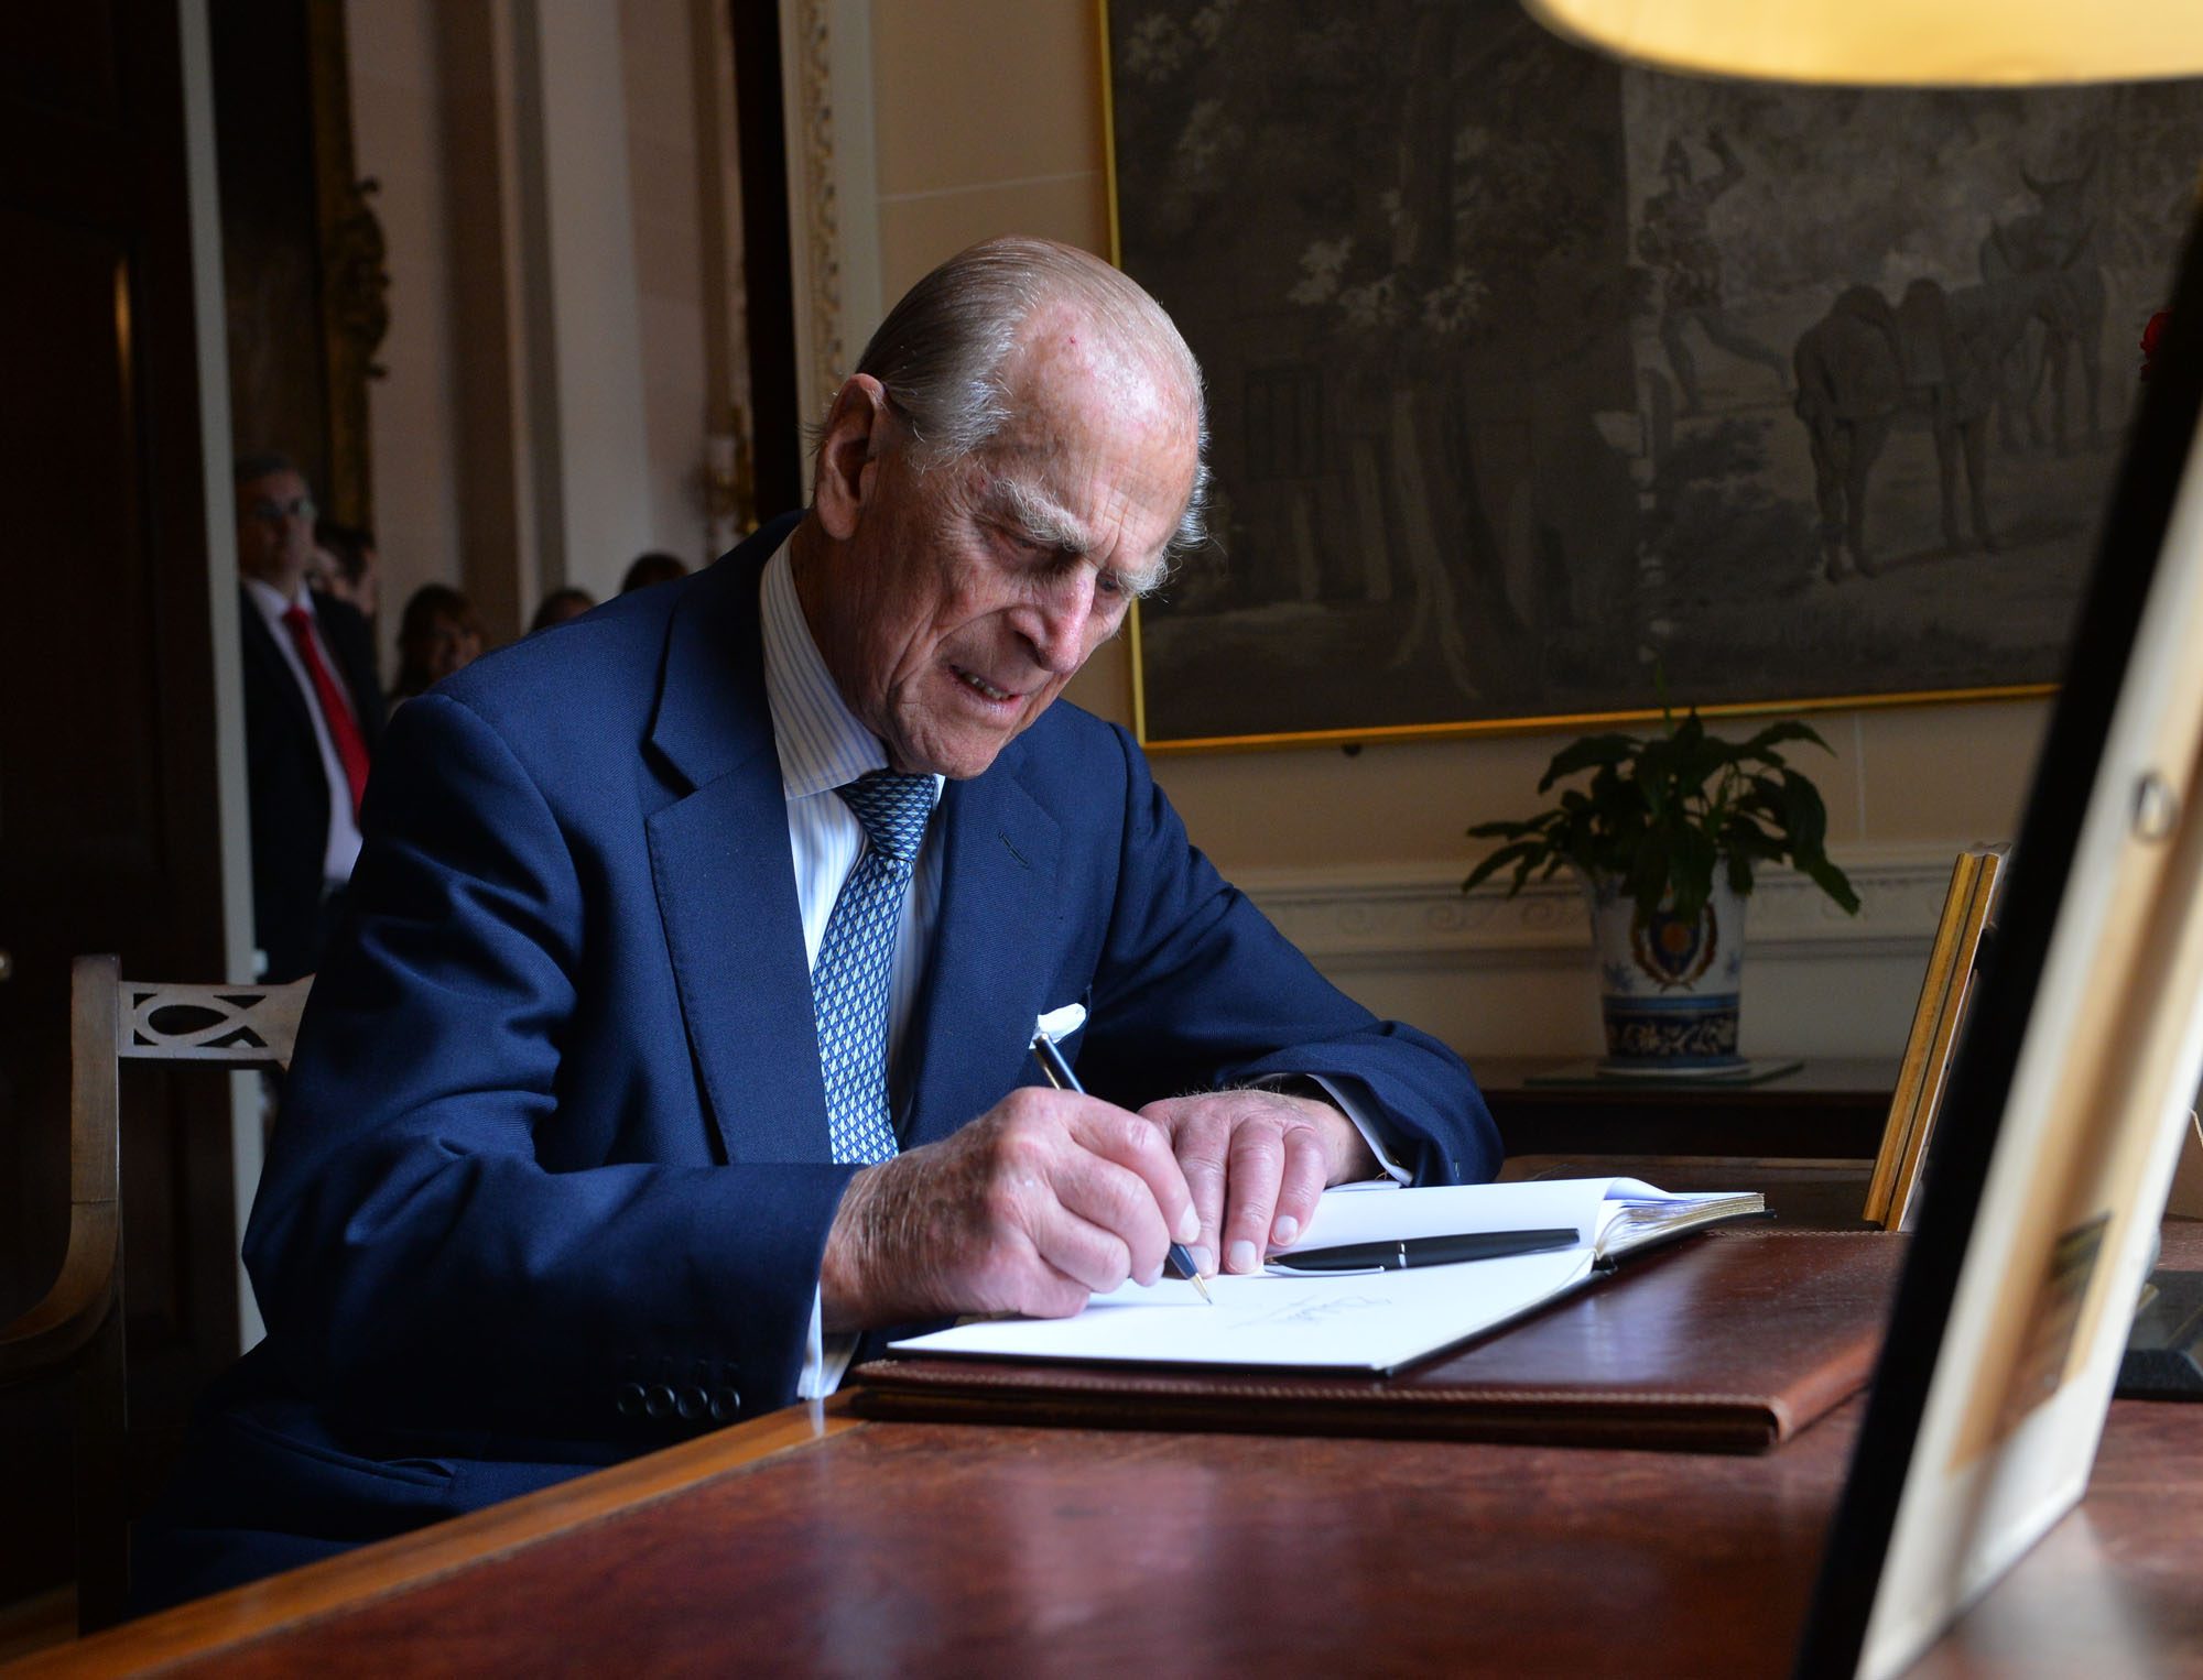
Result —
[[68, 980], [68, 1242], [44, 1297], [0, 1328], [0, 1383], [77, 1381], [77, 1625], [90, 1632], [121, 1621], [128, 1592], [121, 1063], [289, 1068], [313, 975], [167, 984], [123, 980], [112, 956], [79, 956]]

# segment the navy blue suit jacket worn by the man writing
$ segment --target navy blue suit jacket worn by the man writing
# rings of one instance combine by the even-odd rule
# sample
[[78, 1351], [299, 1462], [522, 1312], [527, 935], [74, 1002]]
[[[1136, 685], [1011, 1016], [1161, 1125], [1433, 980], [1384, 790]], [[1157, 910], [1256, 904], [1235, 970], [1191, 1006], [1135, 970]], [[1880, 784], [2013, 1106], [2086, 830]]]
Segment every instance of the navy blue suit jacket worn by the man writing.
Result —
[[[293, 1425], [586, 1464], [793, 1398], [855, 1169], [826, 1141], [764, 702], [784, 531], [394, 713], [247, 1237], [249, 1363]], [[1055, 705], [936, 823], [905, 1147], [1033, 1083], [1035, 1015], [1084, 1002], [1066, 1052], [1117, 1103], [1326, 1074], [1419, 1180], [1496, 1169], [1461, 1061], [1324, 982], [1126, 731]]]

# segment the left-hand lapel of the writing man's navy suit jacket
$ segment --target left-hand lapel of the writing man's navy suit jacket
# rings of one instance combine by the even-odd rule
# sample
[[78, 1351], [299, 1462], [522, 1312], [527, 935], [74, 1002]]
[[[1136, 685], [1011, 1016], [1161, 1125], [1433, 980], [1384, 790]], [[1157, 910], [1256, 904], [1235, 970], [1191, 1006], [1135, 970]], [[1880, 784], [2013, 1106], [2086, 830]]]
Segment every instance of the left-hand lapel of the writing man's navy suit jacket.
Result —
[[650, 876], [729, 1160], [828, 1158], [758, 628], [758, 575], [789, 524], [767, 526], [687, 588], [650, 731], [652, 749], [692, 788], [645, 819]]

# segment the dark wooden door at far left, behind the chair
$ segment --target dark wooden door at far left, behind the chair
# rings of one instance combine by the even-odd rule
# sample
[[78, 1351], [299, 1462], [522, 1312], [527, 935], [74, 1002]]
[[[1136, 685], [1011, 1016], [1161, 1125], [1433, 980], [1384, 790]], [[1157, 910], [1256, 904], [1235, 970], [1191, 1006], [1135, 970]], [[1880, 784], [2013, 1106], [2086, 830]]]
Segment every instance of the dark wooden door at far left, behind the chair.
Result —
[[[174, 0], [0, 9], [0, 1319], [68, 1207], [68, 960], [223, 971], [214, 652]], [[236, 1354], [218, 1079], [123, 1090], [132, 1409], [154, 1473]], [[0, 1394], [0, 1601], [66, 1579], [68, 1407]]]

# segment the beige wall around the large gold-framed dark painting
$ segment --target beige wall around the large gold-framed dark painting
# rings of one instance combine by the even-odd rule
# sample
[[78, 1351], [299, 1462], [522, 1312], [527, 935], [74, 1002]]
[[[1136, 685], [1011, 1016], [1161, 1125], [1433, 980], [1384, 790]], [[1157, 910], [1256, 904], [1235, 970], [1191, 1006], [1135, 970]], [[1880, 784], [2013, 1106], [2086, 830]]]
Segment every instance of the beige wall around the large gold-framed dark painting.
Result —
[[[888, 297], [989, 233], [1046, 233], [1108, 251], [1093, 0], [872, 0], [872, 79]], [[1130, 722], [1126, 647], [1097, 654], [1073, 698]], [[1813, 722], [1835, 749], [1831, 760], [1811, 757], [1837, 861], [1919, 859], [2011, 834], [2044, 707], [1866, 709]], [[1157, 757], [1157, 775], [1229, 874], [1443, 881], [1472, 859], [1463, 828], [1533, 808], [1560, 740], [1372, 744], [1353, 757], [1337, 746], [1179, 753]], [[1758, 964], [1745, 1048], [1895, 1055], [1923, 960], [1921, 947], [1840, 971]], [[1831, 993], [1831, 975], [1846, 991]], [[1597, 1048], [1588, 951], [1582, 971], [1467, 962], [1337, 978], [1467, 1050]]]

